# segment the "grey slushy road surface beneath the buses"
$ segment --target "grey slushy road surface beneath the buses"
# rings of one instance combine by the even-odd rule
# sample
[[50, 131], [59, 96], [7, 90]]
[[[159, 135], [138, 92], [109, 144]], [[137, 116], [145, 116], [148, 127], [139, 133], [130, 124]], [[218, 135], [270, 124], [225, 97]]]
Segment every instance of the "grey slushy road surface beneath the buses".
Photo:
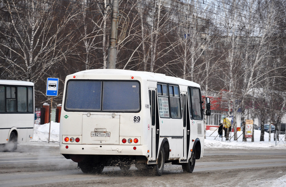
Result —
[[102, 174], [85, 174], [77, 163], [59, 154], [57, 143], [27, 142], [18, 149], [0, 152], [0, 187], [104, 187], [104, 186], [271, 186], [271, 181], [286, 174], [286, 150], [205, 148], [196, 160], [193, 173], [181, 166], [165, 164], [162, 176], [105, 167]]

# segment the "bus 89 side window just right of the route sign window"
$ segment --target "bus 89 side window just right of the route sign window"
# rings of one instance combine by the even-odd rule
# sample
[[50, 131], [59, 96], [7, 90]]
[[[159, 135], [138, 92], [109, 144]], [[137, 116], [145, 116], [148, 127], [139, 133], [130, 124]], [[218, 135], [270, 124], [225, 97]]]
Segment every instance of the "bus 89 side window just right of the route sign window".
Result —
[[[178, 86], [169, 86], [170, 91], [170, 109], [172, 118], [182, 118], [181, 107], [180, 107], [180, 95]], [[172, 91], [172, 96], [171, 96]], [[174, 93], [175, 96], [174, 97]]]

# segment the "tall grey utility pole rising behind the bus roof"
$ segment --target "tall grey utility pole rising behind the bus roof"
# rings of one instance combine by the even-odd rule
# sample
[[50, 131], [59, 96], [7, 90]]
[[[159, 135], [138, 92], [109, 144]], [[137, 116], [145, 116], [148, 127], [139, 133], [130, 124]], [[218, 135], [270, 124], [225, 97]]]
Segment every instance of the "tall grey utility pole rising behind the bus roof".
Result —
[[110, 39], [107, 57], [107, 69], [115, 69], [116, 63], [116, 30], [117, 30], [118, 0], [112, 1]]

